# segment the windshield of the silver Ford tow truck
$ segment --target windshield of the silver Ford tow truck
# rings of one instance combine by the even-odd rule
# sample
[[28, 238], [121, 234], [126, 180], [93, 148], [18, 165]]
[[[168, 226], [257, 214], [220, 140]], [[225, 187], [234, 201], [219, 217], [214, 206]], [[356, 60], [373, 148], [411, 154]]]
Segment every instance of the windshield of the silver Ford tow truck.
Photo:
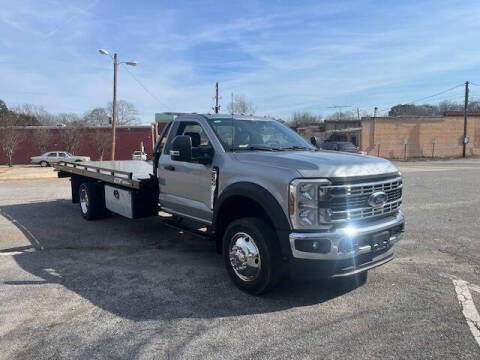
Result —
[[226, 151], [314, 150], [300, 135], [275, 120], [209, 119]]

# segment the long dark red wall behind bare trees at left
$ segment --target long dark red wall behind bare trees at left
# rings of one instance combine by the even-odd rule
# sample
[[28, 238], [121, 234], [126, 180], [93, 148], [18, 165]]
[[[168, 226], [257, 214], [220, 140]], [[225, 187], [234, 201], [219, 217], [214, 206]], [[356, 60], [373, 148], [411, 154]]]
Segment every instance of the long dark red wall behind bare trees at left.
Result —
[[[28, 164], [30, 157], [40, 155], [37, 144], [35, 142], [35, 131], [38, 127], [20, 127], [18, 131], [23, 133], [22, 142], [13, 157], [14, 164]], [[65, 128], [49, 128], [52, 133], [52, 140], [48, 151], [65, 150], [62, 141], [61, 132]], [[95, 131], [105, 131], [111, 133], [110, 128], [86, 128], [80, 144], [79, 151], [76, 155], [90, 156], [92, 160], [98, 160], [95, 147], [91, 144], [91, 136]], [[1, 129], [0, 129], [1, 131]], [[160, 130], [159, 130], [160, 131]], [[152, 157], [152, 150], [155, 143], [155, 131], [153, 126], [132, 126], [118, 127], [116, 134], [116, 160], [128, 160], [132, 158], [135, 150], [140, 150], [140, 143], [143, 141], [145, 152], [148, 158]], [[110, 142], [111, 140], [109, 140]], [[104, 160], [110, 160], [111, 147], [108, 146], [104, 153]], [[7, 160], [4, 153], [0, 150], [0, 164], [6, 164]]]

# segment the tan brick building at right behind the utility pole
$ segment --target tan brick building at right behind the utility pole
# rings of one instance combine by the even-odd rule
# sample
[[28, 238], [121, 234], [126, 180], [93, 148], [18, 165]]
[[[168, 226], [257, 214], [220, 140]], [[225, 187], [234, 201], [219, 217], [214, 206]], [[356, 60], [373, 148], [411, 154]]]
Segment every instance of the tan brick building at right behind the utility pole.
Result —
[[[469, 113], [466, 155], [480, 155], [480, 113]], [[389, 159], [461, 157], [463, 112], [445, 116], [362, 118], [361, 148]]]

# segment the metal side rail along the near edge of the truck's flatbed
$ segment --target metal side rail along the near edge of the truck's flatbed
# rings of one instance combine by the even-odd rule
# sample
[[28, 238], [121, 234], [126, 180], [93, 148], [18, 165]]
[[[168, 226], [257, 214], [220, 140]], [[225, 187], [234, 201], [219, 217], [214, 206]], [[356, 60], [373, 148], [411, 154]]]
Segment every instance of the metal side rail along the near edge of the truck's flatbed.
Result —
[[134, 179], [133, 173], [129, 171], [102, 168], [76, 162], [59, 161], [58, 163], [53, 164], [53, 167], [60, 171], [59, 177], [63, 177], [61, 176], [61, 172], [64, 172], [94, 178], [133, 189], [140, 189], [144, 182], [139, 179]]

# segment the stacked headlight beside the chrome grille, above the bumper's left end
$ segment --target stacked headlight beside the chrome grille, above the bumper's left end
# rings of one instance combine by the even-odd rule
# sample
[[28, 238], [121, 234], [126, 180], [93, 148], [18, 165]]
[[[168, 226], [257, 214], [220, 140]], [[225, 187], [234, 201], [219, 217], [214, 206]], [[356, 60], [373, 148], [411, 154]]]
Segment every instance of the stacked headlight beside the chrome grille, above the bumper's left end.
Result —
[[329, 222], [328, 214], [321, 213], [319, 204], [327, 200], [325, 186], [330, 184], [327, 179], [296, 179], [291, 182], [288, 208], [295, 229], [314, 229]]

